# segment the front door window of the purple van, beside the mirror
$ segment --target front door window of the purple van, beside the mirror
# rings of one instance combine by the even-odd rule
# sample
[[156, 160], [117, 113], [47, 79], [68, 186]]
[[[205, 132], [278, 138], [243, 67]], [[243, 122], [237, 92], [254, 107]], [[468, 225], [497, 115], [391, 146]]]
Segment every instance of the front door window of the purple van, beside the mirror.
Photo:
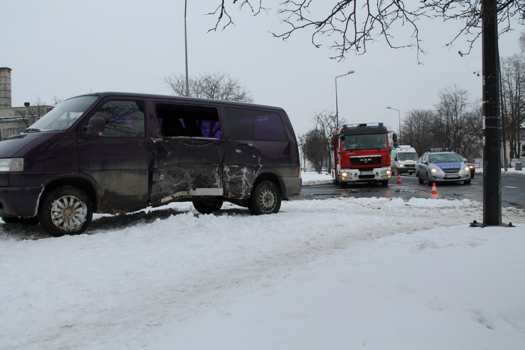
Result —
[[104, 119], [102, 137], [144, 137], [143, 101], [108, 101], [91, 118]]

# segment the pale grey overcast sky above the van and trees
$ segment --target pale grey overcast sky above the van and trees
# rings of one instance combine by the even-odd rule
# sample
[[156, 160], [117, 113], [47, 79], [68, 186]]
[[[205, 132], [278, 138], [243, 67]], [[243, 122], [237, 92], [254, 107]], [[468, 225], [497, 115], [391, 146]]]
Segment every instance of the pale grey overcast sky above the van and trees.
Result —
[[[282, 32], [275, 14], [281, 0], [265, 0], [272, 11], [251, 17], [232, 9], [235, 26], [207, 33], [215, 25], [213, 12], [220, 0], [188, 0], [187, 43], [190, 76], [222, 71], [240, 80], [258, 104], [286, 109], [297, 134], [313, 127], [311, 118], [324, 110], [335, 112], [337, 79], [340, 118], [351, 123], [385, 122], [398, 129], [413, 109], [431, 109], [439, 89], [468, 90], [481, 98], [481, 40], [468, 47], [452, 23], [421, 21], [427, 55], [417, 64], [415, 49], [391, 49], [381, 38], [362, 56], [344, 61], [335, 53], [315, 48], [311, 33], [296, 33], [287, 42], [268, 30]], [[228, 0], [228, 3], [231, 1]], [[324, 0], [326, 8], [334, 1]], [[321, 4], [321, 3], [320, 3]], [[323, 5], [324, 6], [324, 5]], [[325, 8], [325, 9], [326, 9]], [[522, 25], [500, 38], [500, 55], [520, 52]], [[170, 94], [161, 79], [184, 74], [184, 0], [2, 0], [0, 67], [12, 70], [13, 106], [53, 97], [69, 98], [96, 91]], [[405, 38], [401, 33], [396, 40]]]

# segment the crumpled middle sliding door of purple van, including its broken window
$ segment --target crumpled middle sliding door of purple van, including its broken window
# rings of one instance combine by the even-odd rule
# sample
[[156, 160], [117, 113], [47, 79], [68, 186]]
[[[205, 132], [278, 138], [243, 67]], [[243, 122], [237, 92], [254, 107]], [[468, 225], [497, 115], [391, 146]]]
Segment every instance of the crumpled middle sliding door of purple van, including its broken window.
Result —
[[226, 141], [218, 108], [167, 101], [154, 105], [161, 137], [154, 142], [152, 204], [222, 197]]

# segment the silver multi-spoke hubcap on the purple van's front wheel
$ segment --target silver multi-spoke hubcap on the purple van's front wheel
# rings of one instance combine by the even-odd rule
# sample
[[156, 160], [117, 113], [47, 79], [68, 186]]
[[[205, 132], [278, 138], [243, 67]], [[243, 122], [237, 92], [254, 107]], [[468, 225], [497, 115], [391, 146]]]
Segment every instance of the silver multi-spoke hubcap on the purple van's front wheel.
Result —
[[61, 230], [75, 231], [86, 221], [86, 204], [74, 195], [58, 198], [51, 205], [51, 221]]

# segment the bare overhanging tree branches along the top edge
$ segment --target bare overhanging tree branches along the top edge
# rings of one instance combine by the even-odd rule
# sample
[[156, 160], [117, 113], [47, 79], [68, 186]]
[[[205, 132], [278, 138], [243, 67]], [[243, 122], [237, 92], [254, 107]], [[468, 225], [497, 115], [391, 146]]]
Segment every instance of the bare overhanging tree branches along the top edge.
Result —
[[[269, 3], [267, 0], [222, 0], [219, 3], [215, 11], [208, 13], [217, 16], [215, 27], [210, 30], [224, 29], [234, 24], [230, 8], [235, 4], [238, 4], [239, 9], [248, 8], [254, 16], [271, 10], [265, 7]], [[419, 55], [425, 54], [417, 28], [419, 18], [461, 22], [463, 27], [446, 42], [449, 46], [460, 36], [465, 36], [468, 47], [465, 53], [460, 51], [460, 55], [470, 53], [481, 34], [480, 0], [340, 0], [324, 6], [320, 3], [314, 0], [281, 0], [275, 11], [287, 29], [279, 33], [272, 32], [272, 35], [286, 40], [295, 32], [310, 30], [312, 44], [320, 47], [326, 41], [327, 46], [336, 53], [330, 58], [338, 60], [344, 59], [348, 51], [364, 54], [367, 43], [382, 37], [392, 48], [415, 47], [419, 61]], [[500, 33], [507, 32], [511, 29], [510, 18], [525, 18], [525, 0], [497, 0], [496, 12], [499, 14]], [[404, 35], [402, 42], [398, 43], [393, 34], [400, 29], [404, 29], [408, 35]]]

